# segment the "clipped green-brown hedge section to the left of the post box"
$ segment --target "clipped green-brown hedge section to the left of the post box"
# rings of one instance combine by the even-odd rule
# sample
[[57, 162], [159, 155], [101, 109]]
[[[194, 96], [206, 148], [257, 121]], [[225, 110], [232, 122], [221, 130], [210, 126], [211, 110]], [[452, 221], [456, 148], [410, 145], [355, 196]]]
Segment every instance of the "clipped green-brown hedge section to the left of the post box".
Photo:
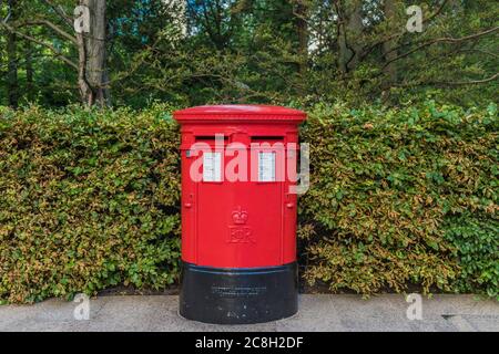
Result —
[[0, 299], [174, 281], [179, 132], [165, 111], [0, 112]]

